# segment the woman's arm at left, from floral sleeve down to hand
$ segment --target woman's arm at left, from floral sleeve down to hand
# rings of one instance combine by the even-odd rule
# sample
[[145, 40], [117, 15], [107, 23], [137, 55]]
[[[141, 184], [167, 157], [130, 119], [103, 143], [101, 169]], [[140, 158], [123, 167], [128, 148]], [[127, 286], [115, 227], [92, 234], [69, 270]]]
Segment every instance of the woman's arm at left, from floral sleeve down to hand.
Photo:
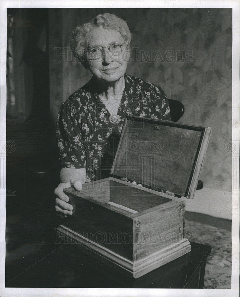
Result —
[[61, 183], [54, 193], [56, 195], [55, 208], [61, 217], [71, 215], [73, 209], [63, 189], [72, 186], [76, 191], [81, 191], [82, 184], [86, 180], [86, 156], [81, 147], [81, 119], [77, 118], [75, 110], [76, 108], [72, 106], [69, 99], [60, 107], [57, 117], [57, 145], [63, 168], [60, 172]]

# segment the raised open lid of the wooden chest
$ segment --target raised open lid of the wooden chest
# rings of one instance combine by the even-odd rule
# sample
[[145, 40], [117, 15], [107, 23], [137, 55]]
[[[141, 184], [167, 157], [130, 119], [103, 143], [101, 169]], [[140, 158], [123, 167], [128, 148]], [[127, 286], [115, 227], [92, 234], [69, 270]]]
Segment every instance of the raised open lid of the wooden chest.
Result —
[[192, 199], [210, 127], [128, 117], [111, 174]]

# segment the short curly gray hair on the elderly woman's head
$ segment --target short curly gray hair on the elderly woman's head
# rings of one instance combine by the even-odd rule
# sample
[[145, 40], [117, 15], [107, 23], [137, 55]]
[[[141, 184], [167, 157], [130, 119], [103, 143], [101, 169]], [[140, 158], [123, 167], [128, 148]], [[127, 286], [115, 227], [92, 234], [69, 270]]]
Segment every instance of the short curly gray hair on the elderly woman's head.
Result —
[[84, 60], [84, 51], [87, 48], [87, 37], [88, 33], [96, 28], [103, 26], [107, 30], [116, 30], [124, 38], [125, 44], [127, 45], [127, 50], [130, 51], [130, 41], [132, 39], [132, 34], [129, 31], [126, 21], [113, 15], [111, 13], [103, 13], [97, 15], [95, 18], [89, 22], [77, 26], [71, 34], [70, 44], [74, 56], [80, 61]]

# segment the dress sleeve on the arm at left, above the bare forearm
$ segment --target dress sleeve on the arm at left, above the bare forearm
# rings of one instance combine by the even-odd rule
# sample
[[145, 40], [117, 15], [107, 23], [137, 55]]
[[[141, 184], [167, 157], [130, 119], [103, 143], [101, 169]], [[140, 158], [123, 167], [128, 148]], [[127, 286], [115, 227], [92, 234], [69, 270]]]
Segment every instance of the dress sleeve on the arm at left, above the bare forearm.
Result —
[[86, 155], [83, 149], [81, 118], [66, 101], [62, 104], [57, 117], [57, 146], [62, 167], [85, 168]]

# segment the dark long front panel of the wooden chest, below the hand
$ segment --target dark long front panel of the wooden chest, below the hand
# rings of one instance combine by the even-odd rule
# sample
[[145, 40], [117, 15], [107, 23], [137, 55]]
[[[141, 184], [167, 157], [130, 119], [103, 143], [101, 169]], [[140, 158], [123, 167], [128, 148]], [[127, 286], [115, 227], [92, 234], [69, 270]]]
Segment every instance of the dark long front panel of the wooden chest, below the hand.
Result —
[[133, 259], [133, 219], [121, 214], [124, 210], [113, 211], [111, 208], [117, 209], [114, 206], [81, 198], [81, 192], [78, 195], [70, 190], [64, 192], [73, 206], [73, 214], [64, 221], [65, 227], [129, 260]]

